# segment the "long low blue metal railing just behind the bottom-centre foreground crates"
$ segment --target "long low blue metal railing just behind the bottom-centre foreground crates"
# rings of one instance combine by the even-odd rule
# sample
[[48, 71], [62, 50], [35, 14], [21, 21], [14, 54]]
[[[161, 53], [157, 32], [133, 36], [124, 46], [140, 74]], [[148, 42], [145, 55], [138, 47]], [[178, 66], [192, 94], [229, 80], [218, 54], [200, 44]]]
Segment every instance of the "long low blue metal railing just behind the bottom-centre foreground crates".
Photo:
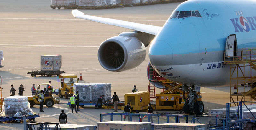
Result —
[[188, 123], [188, 115], [181, 114], [143, 114], [143, 113], [102, 113], [100, 114], [100, 122], [103, 121], [103, 116], [109, 116], [110, 121], [113, 121], [113, 115], [120, 115], [120, 121], [122, 121], [122, 116], [130, 116], [130, 121], [132, 121], [132, 116], [139, 116], [138, 121], [140, 122], [140, 116], [148, 116], [148, 122], [150, 121], [151, 116], [157, 117], [157, 124], [159, 124], [159, 117], [166, 117], [166, 123], [169, 123], [169, 117], [175, 117], [175, 123], [180, 123], [180, 118], [186, 118], [186, 123]]

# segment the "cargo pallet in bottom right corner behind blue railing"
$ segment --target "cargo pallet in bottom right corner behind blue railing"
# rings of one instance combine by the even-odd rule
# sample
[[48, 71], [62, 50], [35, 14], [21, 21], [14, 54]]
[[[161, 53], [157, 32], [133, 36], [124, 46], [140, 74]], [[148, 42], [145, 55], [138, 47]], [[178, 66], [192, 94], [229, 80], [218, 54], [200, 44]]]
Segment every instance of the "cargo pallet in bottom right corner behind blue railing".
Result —
[[[250, 118], [250, 119], [255, 120], [254, 117], [256, 117], [256, 109], [252, 109], [250, 111], [247, 110], [247, 111], [243, 112], [243, 119]], [[253, 115], [254, 115], [254, 117], [253, 117]], [[244, 130], [252, 130], [252, 124], [251, 123], [243, 123], [243, 129]]]

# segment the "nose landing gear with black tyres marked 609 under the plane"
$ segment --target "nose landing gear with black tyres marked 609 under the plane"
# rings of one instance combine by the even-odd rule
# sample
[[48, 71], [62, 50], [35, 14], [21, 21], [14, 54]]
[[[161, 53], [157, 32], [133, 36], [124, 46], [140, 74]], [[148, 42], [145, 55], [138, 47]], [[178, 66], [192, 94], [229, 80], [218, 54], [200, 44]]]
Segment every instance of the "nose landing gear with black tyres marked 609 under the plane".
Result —
[[187, 101], [184, 105], [184, 113], [193, 115], [195, 112], [196, 115], [202, 115], [204, 113], [204, 104], [202, 101], [198, 101], [197, 99], [202, 98], [201, 95], [198, 95], [196, 90], [199, 90], [200, 92], [200, 86], [199, 89], [195, 90], [195, 85], [187, 86], [183, 85], [182, 90], [189, 91], [189, 101]]

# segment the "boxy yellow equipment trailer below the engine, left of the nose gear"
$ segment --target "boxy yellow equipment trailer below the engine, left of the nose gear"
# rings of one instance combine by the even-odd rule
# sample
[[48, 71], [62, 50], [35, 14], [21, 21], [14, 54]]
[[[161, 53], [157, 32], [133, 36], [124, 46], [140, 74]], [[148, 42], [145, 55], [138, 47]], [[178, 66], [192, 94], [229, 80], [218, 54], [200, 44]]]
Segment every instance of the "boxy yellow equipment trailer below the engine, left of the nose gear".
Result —
[[[124, 95], [124, 102], [125, 105], [130, 102], [130, 106], [133, 106], [133, 112], [147, 112], [148, 104], [150, 103], [150, 95], [148, 91], [126, 93]], [[124, 110], [124, 106], [121, 110]]]

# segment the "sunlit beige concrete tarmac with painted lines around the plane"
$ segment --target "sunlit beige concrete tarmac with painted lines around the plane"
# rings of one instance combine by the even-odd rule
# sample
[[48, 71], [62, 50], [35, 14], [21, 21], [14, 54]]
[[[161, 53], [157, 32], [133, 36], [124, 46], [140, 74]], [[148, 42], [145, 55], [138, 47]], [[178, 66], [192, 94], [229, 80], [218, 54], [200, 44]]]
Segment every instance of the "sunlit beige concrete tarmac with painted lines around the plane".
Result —
[[[104, 40], [116, 36], [129, 29], [100, 24], [74, 18], [71, 9], [52, 9], [50, 0], [1, 0], [0, 4], [0, 50], [3, 50], [4, 61], [0, 68], [2, 77], [2, 97], [8, 97], [11, 84], [17, 90], [20, 84], [25, 86], [24, 96], [31, 95], [32, 84], [52, 81], [54, 89], [58, 88], [58, 77], [31, 77], [28, 71], [40, 70], [40, 55], [62, 55], [61, 71], [66, 74], [82, 73], [83, 83], [111, 83], [112, 93], [116, 92], [124, 101], [124, 94], [132, 91], [133, 85], [139, 91], [148, 90], [146, 69], [149, 63], [145, 61], [135, 69], [124, 72], [110, 72], [103, 69], [97, 59], [97, 50]], [[125, 20], [141, 24], [162, 26], [170, 17], [172, 11], [180, 4], [167, 3], [137, 7], [124, 7], [100, 10], [80, 10], [88, 15]], [[149, 47], [146, 48], [147, 52]], [[204, 110], [225, 108], [230, 102], [230, 87], [201, 88]], [[156, 93], [163, 90], [156, 89]], [[236, 91], [236, 90], [232, 90]], [[58, 97], [58, 96], [56, 96]], [[67, 103], [68, 99], [60, 99]], [[96, 124], [100, 121], [100, 113], [113, 110], [95, 110], [92, 106], [80, 108], [78, 114], [71, 113], [66, 104], [44, 106], [44, 112], [39, 112], [39, 105], [32, 110], [40, 114], [38, 122], [58, 122], [61, 109], [65, 110], [69, 124]], [[122, 112], [122, 110], [119, 110]], [[171, 113], [175, 111], [158, 111]], [[192, 116], [189, 116], [190, 120]], [[136, 117], [134, 120], [137, 120]], [[114, 120], [119, 120], [117, 117]], [[109, 121], [104, 118], [104, 121]], [[147, 119], [143, 119], [146, 121]], [[157, 119], [156, 119], [157, 121]], [[162, 119], [164, 121], [164, 119]], [[189, 121], [190, 122], [190, 121]], [[29, 121], [27, 120], [27, 123]], [[207, 120], [206, 120], [207, 123]], [[23, 124], [2, 122], [1, 130], [23, 129]]]

